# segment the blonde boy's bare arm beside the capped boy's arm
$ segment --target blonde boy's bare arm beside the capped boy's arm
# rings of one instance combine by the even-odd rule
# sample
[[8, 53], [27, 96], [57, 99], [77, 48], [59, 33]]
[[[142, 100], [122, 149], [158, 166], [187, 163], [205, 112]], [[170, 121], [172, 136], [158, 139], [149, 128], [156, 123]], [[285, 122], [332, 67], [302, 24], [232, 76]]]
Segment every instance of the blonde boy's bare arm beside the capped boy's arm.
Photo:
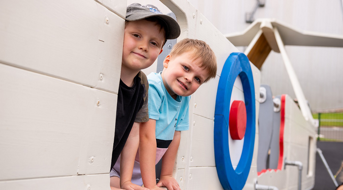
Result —
[[155, 162], [156, 162], [156, 120], [140, 124], [139, 130], [139, 162], [144, 187], [151, 190], [161, 189], [156, 186]]

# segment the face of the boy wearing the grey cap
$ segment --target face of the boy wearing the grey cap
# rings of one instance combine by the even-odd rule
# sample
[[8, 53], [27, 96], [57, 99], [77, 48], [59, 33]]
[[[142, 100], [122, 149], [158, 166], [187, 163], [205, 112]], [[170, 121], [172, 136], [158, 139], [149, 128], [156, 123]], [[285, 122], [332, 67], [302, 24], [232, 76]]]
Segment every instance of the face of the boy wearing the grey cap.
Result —
[[138, 72], [150, 67], [162, 52], [165, 40], [163, 32], [155, 23], [139, 20], [130, 21], [124, 31], [122, 69]]

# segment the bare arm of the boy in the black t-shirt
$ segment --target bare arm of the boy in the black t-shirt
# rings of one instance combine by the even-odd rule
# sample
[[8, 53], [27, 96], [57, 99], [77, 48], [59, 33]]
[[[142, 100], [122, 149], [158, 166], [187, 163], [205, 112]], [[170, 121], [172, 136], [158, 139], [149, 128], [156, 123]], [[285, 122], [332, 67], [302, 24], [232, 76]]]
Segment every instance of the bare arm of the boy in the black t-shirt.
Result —
[[134, 122], [120, 156], [120, 188], [127, 190], [148, 190], [131, 182], [134, 159], [139, 145], [140, 123]]

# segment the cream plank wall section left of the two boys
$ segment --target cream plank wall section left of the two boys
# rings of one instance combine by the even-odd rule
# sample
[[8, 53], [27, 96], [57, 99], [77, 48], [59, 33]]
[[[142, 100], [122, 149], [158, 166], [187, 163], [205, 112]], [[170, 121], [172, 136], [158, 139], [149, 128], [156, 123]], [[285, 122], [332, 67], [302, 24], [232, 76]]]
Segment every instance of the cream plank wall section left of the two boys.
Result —
[[0, 189], [109, 189], [125, 13], [0, 2]]

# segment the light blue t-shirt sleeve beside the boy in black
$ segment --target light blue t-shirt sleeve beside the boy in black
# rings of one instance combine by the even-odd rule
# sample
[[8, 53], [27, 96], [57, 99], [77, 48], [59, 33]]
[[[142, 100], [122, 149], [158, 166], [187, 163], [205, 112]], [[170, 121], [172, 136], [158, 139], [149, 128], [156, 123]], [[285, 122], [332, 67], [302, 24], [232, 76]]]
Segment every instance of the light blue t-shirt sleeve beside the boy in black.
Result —
[[159, 108], [161, 108], [164, 92], [155, 81], [149, 81], [149, 118], [158, 120]]

